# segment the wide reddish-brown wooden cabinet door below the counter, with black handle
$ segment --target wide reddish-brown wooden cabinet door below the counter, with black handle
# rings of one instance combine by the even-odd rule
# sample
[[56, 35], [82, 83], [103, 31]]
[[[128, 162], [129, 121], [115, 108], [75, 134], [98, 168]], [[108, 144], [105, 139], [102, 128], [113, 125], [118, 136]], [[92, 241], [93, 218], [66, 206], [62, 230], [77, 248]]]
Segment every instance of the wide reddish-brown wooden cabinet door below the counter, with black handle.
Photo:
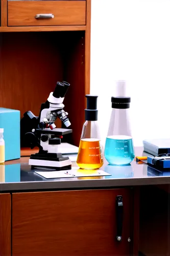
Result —
[[128, 256], [131, 210], [128, 188], [13, 194], [12, 255]]

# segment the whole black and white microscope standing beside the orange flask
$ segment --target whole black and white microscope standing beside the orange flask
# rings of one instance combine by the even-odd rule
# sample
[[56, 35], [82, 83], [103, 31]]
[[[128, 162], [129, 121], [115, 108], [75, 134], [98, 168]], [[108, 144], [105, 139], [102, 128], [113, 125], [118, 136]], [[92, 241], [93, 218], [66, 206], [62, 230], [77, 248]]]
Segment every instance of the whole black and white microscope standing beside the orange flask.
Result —
[[55, 91], [51, 92], [47, 101], [41, 104], [39, 117], [31, 111], [24, 114], [22, 126], [25, 129], [26, 139], [31, 144], [31, 148], [39, 147], [39, 152], [32, 154], [29, 160], [29, 165], [33, 168], [56, 170], [71, 168], [70, 159], [63, 157], [60, 153], [60, 144], [62, 136], [72, 133], [72, 130], [56, 128], [54, 123], [57, 118], [60, 118], [66, 127], [71, 124], [67, 117], [68, 113], [63, 109], [63, 100], [69, 86], [70, 84], [65, 81], [57, 82]]

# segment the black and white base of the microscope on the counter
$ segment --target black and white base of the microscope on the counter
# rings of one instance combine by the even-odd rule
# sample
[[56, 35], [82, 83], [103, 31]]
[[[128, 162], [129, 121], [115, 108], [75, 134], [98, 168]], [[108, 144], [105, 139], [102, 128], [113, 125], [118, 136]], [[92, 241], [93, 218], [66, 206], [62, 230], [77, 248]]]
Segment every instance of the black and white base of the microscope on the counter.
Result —
[[30, 159], [29, 165], [32, 168], [53, 168], [56, 170], [68, 170], [71, 169], [71, 161], [63, 160], [63, 161], [50, 161], [50, 160], [42, 160], [42, 159]]

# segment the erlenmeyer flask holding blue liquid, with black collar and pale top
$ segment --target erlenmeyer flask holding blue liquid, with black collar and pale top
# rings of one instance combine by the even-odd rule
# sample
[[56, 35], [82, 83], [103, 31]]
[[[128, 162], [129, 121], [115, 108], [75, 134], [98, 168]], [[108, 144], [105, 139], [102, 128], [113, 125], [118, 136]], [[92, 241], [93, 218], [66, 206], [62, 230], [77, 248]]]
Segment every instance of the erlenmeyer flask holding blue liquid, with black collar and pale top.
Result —
[[111, 97], [112, 113], [105, 142], [105, 158], [110, 164], [127, 165], [135, 158], [131, 136], [130, 97], [125, 97], [125, 81], [117, 81], [117, 93]]

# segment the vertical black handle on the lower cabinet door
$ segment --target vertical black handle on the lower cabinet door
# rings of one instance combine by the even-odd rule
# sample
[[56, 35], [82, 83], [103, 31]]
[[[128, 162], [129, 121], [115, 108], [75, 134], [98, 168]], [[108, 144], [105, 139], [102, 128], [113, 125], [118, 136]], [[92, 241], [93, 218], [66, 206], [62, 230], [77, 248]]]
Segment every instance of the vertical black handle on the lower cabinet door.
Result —
[[116, 197], [116, 224], [117, 224], [116, 240], [119, 242], [122, 241], [123, 217], [124, 217], [123, 196], [117, 196]]

